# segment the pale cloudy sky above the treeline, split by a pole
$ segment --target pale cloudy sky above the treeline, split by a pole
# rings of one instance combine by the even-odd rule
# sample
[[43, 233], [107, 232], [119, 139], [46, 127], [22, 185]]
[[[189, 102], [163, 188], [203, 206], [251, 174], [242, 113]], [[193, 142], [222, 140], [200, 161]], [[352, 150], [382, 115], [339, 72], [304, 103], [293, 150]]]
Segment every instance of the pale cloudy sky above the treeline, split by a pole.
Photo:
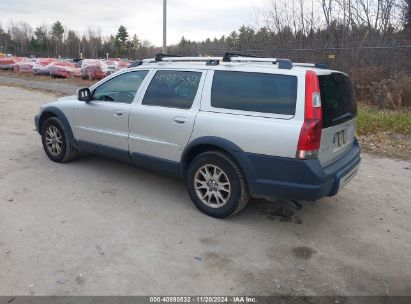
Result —
[[[255, 11], [267, 0], [167, 0], [168, 44], [182, 36], [201, 41], [221, 37], [241, 25], [254, 25]], [[104, 4], [102, 4], [104, 3]], [[24, 21], [33, 28], [60, 20], [80, 34], [89, 27], [103, 36], [115, 34], [120, 25], [156, 46], [162, 44], [163, 0], [0, 0], [0, 22]]]

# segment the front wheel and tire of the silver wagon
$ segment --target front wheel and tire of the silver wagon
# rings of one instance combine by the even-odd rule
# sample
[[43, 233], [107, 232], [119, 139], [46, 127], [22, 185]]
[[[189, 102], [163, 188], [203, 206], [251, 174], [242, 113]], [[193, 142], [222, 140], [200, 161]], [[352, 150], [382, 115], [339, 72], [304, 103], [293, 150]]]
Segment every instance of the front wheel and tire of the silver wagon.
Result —
[[78, 150], [71, 145], [67, 132], [56, 117], [48, 118], [43, 123], [41, 126], [41, 139], [44, 152], [56, 163], [69, 162], [78, 155]]

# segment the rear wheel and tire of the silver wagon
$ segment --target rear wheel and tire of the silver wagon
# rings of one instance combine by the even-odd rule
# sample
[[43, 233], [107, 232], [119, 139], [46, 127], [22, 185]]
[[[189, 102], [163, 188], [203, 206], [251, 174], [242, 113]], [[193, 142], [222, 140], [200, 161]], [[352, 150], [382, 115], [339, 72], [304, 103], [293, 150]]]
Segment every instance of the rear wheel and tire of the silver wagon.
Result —
[[[206, 175], [211, 178], [207, 179]], [[240, 167], [230, 156], [220, 151], [198, 155], [188, 167], [186, 183], [194, 205], [215, 218], [225, 218], [238, 213], [249, 200]]]

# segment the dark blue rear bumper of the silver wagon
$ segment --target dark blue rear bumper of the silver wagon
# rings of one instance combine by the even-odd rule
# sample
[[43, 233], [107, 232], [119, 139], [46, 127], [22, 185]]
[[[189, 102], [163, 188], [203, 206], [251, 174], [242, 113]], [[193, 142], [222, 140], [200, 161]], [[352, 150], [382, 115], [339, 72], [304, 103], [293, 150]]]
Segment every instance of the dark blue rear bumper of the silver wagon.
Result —
[[355, 175], [360, 147], [352, 148], [337, 162], [323, 168], [316, 159], [298, 160], [247, 154], [252, 171], [246, 172], [251, 195], [263, 198], [317, 200], [338, 193], [346, 180]]

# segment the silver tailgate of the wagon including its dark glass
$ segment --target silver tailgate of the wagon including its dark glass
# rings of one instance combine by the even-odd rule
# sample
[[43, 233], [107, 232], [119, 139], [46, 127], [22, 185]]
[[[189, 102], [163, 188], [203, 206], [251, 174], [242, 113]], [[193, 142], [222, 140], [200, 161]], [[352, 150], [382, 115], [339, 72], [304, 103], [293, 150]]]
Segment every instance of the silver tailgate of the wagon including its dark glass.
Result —
[[318, 159], [325, 167], [341, 158], [354, 143], [357, 102], [347, 75], [318, 75], [318, 80], [323, 119]]

